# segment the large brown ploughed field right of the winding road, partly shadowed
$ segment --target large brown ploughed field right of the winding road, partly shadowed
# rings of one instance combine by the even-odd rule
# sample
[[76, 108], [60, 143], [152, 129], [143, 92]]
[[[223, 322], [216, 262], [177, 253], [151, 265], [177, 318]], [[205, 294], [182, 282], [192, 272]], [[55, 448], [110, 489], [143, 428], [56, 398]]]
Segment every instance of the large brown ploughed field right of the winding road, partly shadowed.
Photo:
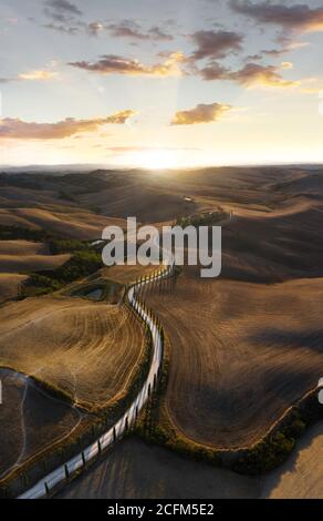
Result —
[[188, 272], [148, 303], [171, 343], [167, 410], [192, 440], [252, 445], [323, 374], [323, 278], [260, 285]]

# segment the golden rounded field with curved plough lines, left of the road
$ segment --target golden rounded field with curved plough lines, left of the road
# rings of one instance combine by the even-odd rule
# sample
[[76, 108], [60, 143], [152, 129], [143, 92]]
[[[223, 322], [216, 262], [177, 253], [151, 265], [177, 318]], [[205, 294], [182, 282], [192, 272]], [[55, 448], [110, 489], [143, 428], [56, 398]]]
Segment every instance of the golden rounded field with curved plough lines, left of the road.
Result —
[[41, 297], [0, 309], [0, 365], [67, 392], [88, 408], [125, 391], [145, 339], [124, 307], [81, 298]]

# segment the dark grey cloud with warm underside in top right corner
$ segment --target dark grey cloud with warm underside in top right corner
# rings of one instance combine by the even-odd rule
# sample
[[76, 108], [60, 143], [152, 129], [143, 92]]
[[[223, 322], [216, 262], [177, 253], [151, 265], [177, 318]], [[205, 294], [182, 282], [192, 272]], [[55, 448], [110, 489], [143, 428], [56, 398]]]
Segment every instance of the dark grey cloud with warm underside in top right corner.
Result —
[[311, 9], [304, 3], [282, 6], [268, 1], [253, 3], [238, 0], [230, 0], [230, 6], [236, 12], [257, 22], [273, 23], [299, 32], [323, 31], [323, 8]]

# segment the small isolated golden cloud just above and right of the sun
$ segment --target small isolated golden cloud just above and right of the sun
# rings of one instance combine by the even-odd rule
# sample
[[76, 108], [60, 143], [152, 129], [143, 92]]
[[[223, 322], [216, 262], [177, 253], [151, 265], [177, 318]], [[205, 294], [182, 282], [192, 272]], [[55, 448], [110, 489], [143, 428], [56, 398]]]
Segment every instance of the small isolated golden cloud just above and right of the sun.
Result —
[[219, 121], [231, 109], [231, 105], [222, 105], [220, 103], [200, 103], [194, 109], [176, 112], [170, 124], [195, 125], [197, 123], [212, 123]]

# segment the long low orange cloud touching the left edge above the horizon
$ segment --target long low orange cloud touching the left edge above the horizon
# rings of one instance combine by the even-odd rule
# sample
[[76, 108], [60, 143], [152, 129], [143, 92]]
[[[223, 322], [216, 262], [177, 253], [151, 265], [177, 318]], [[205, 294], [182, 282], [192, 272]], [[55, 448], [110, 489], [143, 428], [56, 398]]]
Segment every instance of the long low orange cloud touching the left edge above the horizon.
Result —
[[82, 132], [94, 132], [106, 124], [125, 124], [136, 113], [132, 110], [116, 112], [107, 118], [74, 120], [67, 118], [56, 123], [25, 122], [14, 118], [0, 120], [0, 139], [61, 140]]

